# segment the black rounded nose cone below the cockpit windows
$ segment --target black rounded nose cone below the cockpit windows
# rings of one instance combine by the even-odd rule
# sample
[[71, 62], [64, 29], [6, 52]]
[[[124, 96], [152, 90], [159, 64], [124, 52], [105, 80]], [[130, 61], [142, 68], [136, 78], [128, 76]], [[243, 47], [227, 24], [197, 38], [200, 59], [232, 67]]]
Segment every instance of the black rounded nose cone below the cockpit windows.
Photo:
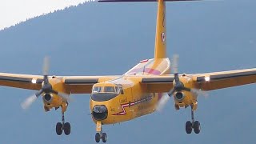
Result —
[[93, 117], [95, 120], [102, 121], [107, 118], [107, 108], [104, 105], [96, 105], [93, 108]]

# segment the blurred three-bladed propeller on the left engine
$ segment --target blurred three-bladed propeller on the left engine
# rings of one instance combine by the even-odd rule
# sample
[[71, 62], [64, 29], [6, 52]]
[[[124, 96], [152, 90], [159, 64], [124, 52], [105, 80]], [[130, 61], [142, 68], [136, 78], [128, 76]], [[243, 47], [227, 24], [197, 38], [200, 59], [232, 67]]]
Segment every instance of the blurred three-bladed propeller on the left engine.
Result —
[[42, 66], [42, 73], [43, 73], [43, 83], [42, 83], [42, 89], [38, 90], [35, 94], [30, 96], [29, 98], [26, 98], [24, 102], [22, 102], [21, 106], [22, 109], [28, 109], [35, 100], [42, 95], [43, 93], [45, 94], [57, 94], [58, 96], [68, 100], [69, 99], [69, 94], [64, 94], [61, 92], [58, 92], [56, 90], [53, 90], [52, 85], [49, 82], [48, 78], [48, 72], [49, 72], [49, 67], [50, 67], [50, 60], [49, 57], [44, 58], [43, 66]]

